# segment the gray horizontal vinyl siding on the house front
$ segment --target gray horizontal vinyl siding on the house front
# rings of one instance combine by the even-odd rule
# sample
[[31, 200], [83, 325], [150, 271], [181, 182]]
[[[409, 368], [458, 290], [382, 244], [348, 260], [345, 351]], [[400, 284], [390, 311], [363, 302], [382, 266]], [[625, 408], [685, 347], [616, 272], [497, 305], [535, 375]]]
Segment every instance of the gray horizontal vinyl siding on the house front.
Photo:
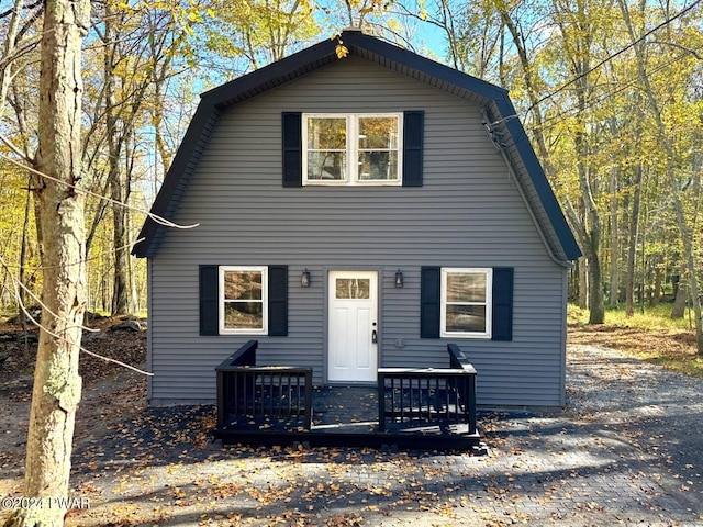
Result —
[[[424, 184], [281, 183], [282, 112], [423, 110]], [[446, 367], [455, 341], [478, 370], [479, 404], [563, 404], [566, 270], [555, 264], [480, 108], [348, 57], [225, 112], [150, 261], [154, 404], [213, 401], [214, 367], [249, 338], [259, 363], [312, 367], [326, 380], [326, 273], [379, 271], [382, 367]], [[288, 265], [289, 334], [199, 336], [199, 265]], [[513, 267], [509, 343], [420, 338], [420, 269]], [[304, 268], [309, 289], [300, 287]], [[404, 288], [393, 287], [401, 269]]]

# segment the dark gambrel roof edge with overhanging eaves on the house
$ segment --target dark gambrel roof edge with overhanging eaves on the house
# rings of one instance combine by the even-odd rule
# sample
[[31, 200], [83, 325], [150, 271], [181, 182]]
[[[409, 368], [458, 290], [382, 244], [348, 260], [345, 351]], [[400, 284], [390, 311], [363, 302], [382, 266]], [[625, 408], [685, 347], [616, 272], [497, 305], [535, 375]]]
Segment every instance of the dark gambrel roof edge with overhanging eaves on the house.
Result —
[[[358, 30], [343, 32], [342, 41], [349, 55], [370, 60], [479, 104], [490, 121], [487, 128], [493, 132], [496, 145], [504, 153], [551, 256], [561, 262], [581, 256], [525, 130], [516, 117], [506, 90], [365, 35]], [[203, 93], [161, 190], [156, 197], [152, 213], [165, 218], [174, 217], [221, 112], [336, 60], [339, 60], [336, 55], [336, 42], [326, 40]], [[147, 218], [140, 234], [140, 238], [143, 239], [134, 247], [133, 254], [137, 257], [156, 255], [166, 228], [153, 218]]]

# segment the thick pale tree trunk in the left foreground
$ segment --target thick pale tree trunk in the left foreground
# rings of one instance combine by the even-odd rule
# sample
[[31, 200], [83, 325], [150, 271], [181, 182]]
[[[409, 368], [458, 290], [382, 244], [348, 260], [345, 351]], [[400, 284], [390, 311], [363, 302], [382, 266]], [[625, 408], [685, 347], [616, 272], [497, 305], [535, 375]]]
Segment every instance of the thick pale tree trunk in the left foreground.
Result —
[[[85, 197], [80, 182], [81, 43], [90, 23], [88, 0], [46, 0], [42, 31], [36, 168], [44, 239], [42, 329], [26, 442], [24, 495], [47, 506], [21, 508], [5, 525], [62, 526], [68, 495], [81, 323], [86, 306]], [[48, 500], [54, 500], [48, 506]]]

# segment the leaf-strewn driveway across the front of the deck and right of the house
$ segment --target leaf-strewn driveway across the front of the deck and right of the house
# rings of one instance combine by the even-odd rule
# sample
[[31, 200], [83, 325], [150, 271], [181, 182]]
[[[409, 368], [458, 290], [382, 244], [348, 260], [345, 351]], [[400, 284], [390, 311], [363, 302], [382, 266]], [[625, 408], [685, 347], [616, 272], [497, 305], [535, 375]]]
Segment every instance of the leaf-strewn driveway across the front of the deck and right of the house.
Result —
[[563, 412], [481, 412], [488, 456], [222, 447], [211, 407], [135, 404], [77, 445], [67, 525], [703, 526], [703, 382], [572, 345], [567, 385]]

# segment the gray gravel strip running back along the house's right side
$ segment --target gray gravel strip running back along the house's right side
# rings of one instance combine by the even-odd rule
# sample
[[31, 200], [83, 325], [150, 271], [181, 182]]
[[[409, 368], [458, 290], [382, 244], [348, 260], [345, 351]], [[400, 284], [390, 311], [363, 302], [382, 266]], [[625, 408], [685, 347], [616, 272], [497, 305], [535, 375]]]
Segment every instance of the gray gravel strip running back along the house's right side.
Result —
[[570, 346], [567, 361], [576, 427], [702, 520], [703, 381], [593, 346]]

